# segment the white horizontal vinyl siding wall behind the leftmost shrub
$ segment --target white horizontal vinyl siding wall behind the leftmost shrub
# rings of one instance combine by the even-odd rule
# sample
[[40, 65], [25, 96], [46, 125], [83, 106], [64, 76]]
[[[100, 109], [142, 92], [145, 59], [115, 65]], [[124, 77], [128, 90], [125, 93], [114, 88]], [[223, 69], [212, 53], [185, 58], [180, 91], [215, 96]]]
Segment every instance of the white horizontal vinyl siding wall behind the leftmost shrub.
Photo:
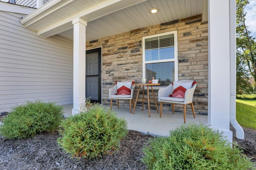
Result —
[[0, 11], [0, 112], [26, 100], [72, 104], [73, 42], [38, 37], [22, 17]]

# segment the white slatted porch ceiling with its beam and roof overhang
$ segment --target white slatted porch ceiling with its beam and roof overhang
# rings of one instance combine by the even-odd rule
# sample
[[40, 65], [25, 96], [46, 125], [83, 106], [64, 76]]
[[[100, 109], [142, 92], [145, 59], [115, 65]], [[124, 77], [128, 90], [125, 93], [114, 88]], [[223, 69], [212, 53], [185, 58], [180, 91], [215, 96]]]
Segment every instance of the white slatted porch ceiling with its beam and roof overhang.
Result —
[[[156, 14], [150, 8], [158, 8]], [[202, 14], [207, 0], [51, 0], [20, 22], [42, 37], [60, 35], [73, 40], [72, 20], [87, 22], [86, 41]]]

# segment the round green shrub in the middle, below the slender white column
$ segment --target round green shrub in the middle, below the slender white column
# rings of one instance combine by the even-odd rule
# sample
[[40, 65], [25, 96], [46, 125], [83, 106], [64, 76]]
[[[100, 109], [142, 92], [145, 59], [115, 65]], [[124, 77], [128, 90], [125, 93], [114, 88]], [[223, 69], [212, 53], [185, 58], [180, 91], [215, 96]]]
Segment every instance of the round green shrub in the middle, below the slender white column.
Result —
[[118, 149], [127, 123], [110, 109], [95, 104], [62, 121], [57, 142], [73, 157], [96, 158]]

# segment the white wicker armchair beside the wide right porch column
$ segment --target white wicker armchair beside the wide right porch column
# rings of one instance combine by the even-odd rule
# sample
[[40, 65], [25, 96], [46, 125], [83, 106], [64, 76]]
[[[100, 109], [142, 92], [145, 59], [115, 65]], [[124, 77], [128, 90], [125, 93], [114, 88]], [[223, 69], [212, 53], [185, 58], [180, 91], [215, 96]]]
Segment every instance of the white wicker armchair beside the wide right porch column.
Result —
[[[184, 82], [193, 82], [193, 81], [192, 80], [180, 80], [177, 82], [184, 83]], [[186, 123], [186, 105], [187, 104], [191, 105], [194, 118], [196, 118], [194, 106], [192, 103], [195, 89], [196, 89], [196, 84], [194, 84], [192, 86], [192, 88], [186, 90], [185, 98], [169, 97], [169, 95], [172, 94], [172, 92], [173, 92], [172, 84], [170, 84], [166, 88], [159, 89], [158, 90], [158, 101], [160, 102], [160, 117], [162, 117], [162, 103], [166, 102], [166, 103], [172, 103], [172, 113], [173, 114], [174, 114], [174, 104], [183, 104], [184, 123]]]

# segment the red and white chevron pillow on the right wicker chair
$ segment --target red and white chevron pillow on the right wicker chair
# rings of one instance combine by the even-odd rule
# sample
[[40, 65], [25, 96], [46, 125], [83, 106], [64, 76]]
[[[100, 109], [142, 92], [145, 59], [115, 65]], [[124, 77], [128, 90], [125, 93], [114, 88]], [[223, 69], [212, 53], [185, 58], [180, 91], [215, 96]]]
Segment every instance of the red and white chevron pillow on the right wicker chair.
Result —
[[180, 83], [180, 82], [173, 82], [173, 92], [172, 97], [174, 98], [185, 98], [185, 92], [187, 89], [192, 88], [193, 82], [186, 82], [186, 83]]

